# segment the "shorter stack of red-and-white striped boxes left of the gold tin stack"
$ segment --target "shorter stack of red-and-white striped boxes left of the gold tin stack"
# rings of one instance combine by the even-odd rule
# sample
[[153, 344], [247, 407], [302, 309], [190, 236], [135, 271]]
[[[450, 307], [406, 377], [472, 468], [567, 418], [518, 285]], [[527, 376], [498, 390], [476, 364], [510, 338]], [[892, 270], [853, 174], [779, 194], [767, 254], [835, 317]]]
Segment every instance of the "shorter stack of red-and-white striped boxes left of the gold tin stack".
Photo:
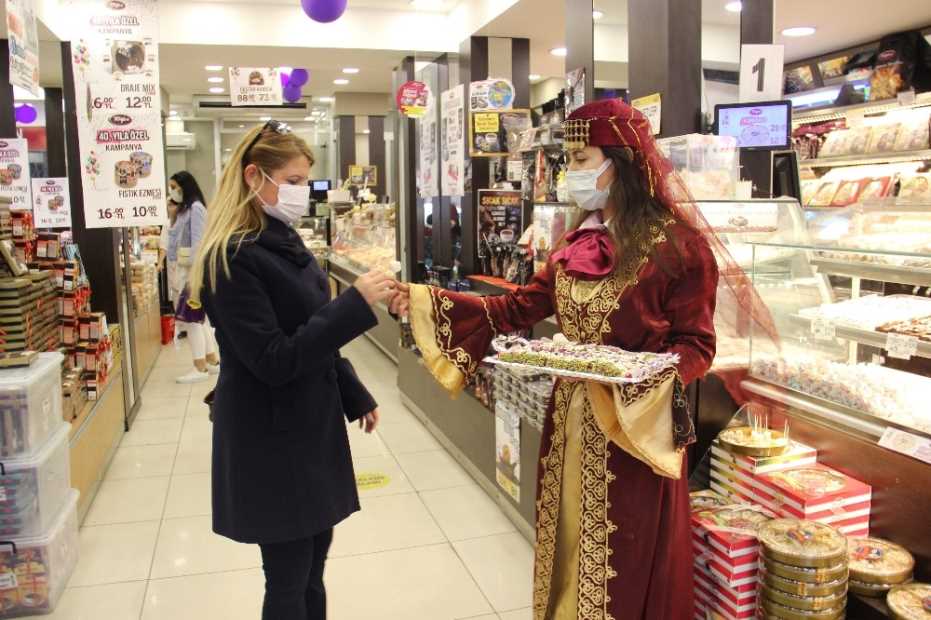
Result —
[[757, 528], [775, 515], [760, 506], [731, 504], [692, 512], [695, 603], [723, 618], [752, 618], [756, 610]]

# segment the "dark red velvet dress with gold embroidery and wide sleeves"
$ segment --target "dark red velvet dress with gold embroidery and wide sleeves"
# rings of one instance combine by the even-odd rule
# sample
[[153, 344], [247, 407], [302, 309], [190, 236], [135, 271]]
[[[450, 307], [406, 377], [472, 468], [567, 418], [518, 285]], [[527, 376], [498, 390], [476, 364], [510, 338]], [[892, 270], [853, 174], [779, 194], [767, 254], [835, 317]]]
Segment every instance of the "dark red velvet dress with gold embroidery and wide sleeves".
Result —
[[[420, 302], [412, 295], [412, 319], [418, 303], [432, 305], [436, 347], [426, 342], [423, 322], [413, 321], [428, 368], [455, 389], [448, 373], [444, 381], [438, 363], [468, 377], [495, 335], [529, 329], [555, 313], [562, 333], [574, 342], [678, 353], [677, 388], [703, 376], [715, 354], [715, 258], [691, 228], [671, 225], [675, 248], [665, 231], [654, 233], [626, 270], [634, 276], [625, 277], [622, 266], [618, 273], [586, 282], [550, 264], [509, 295], [478, 298], [433, 288], [428, 296], [421, 290]], [[648, 258], [654, 246], [659, 261]], [[678, 479], [654, 473], [609, 440], [581, 385], [557, 383], [543, 430], [534, 618], [692, 618], [685, 459]], [[672, 409], [671, 428], [681, 448], [694, 429], [684, 407]], [[669, 415], [668, 405], [665, 411]]]

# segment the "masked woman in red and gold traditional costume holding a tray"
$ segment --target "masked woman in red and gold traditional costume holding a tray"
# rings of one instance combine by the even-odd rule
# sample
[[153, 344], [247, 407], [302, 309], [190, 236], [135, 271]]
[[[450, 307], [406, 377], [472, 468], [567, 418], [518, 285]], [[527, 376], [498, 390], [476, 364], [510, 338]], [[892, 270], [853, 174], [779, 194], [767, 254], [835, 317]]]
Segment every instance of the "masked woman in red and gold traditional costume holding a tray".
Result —
[[452, 393], [496, 335], [554, 313], [572, 342], [679, 356], [647, 384], [557, 381], [539, 465], [533, 607], [536, 620], [692, 618], [684, 449], [695, 431], [684, 387], [714, 358], [716, 254], [728, 257], [642, 114], [599, 101], [565, 125], [567, 181], [582, 210], [547, 267], [509, 295], [410, 285], [409, 302], [402, 293], [393, 306], [409, 303], [426, 366]]

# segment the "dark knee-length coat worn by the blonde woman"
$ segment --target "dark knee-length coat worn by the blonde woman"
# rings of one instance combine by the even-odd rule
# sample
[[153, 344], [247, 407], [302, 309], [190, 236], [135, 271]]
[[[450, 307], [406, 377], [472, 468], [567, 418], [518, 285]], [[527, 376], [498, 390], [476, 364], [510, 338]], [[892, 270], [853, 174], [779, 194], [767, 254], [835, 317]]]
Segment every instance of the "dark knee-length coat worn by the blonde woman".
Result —
[[375, 401], [339, 349], [378, 322], [289, 226], [231, 249], [204, 308], [221, 370], [213, 404], [213, 529], [239, 542], [296, 540], [359, 510], [346, 421]]

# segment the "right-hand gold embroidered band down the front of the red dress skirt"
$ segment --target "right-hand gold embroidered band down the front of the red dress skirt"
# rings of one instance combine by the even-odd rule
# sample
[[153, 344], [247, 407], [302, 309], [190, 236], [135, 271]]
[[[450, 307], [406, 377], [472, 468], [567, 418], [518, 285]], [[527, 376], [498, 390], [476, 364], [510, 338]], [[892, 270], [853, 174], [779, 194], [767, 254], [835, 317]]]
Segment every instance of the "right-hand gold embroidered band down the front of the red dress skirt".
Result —
[[611, 567], [610, 536], [617, 526], [608, 518], [611, 502], [608, 483], [608, 438], [595, 421], [591, 402], [585, 399], [582, 419], [582, 529], [579, 535], [579, 620], [614, 620], [608, 611]]

